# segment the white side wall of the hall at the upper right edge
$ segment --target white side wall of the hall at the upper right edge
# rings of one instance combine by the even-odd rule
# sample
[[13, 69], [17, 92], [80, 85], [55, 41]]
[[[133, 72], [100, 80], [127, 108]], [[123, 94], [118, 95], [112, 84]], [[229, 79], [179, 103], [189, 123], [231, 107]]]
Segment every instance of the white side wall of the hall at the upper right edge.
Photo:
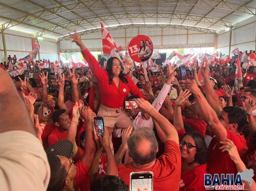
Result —
[[[217, 51], [229, 55], [229, 32], [219, 31], [217, 36]], [[231, 51], [238, 48], [240, 51], [255, 50], [256, 17], [253, 16], [236, 24], [232, 30]]]

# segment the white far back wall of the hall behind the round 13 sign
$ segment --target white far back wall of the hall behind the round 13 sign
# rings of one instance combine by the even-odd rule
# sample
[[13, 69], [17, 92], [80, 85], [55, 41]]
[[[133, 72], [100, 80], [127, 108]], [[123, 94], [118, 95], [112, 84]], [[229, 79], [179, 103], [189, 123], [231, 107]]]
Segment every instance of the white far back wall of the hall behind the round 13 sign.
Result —
[[[126, 31], [126, 37], [125, 37]], [[122, 28], [122, 29], [108, 29], [114, 39], [117, 47], [122, 46], [126, 48], [127, 41], [131, 41], [133, 37], [138, 34], [147, 35], [153, 42], [156, 48], [197, 48], [201, 47], [213, 47], [214, 34], [207, 33], [202, 34], [199, 31], [190, 31], [184, 29], [173, 29], [173, 28]], [[188, 33], [188, 34], [187, 34]], [[101, 31], [96, 30], [93, 33], [87, 33], [80, 35], [84, 45], [90, 51], [102, 51], [102, 39]], [[60, 40], [61, 52], [79, 51], [80, 48], [75, 44], [71, 43], [71, 40]]]

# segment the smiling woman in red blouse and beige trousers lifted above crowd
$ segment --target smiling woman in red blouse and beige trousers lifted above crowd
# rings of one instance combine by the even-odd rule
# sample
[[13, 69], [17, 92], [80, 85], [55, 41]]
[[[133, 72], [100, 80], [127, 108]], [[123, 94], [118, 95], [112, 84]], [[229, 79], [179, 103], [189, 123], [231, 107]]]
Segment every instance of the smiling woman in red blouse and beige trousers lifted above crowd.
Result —
[[118, 129], [132, 126], [129, 115], [125, 112], [123, 102], [128, 93], [145, 99], [143, 93], [134, 84], [132, 79], [123, 74], [122, 62], [116, 57], [107, 61], [106, 70], [103, 70], [95, 57], [85, 48], [83, 42], [75, 31], [71, 34], [72, 42], [81, 48], [84, 59], [88, 62], [92, 74], [98, 79], [101, 105], [97, 116], [104, 118], [104, 125], [108, 127], [108, 133], [113, 132], [114, 127]]

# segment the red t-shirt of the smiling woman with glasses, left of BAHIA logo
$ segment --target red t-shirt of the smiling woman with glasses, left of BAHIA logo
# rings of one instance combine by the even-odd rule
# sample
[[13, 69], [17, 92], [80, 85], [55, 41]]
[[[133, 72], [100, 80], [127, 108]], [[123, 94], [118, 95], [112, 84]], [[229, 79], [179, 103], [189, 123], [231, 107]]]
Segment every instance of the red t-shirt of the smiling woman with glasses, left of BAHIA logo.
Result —
[[[182, 162], [183, 164], [183, 162]], [[180, 174], [180, 191], [203, 191], [204, 174], [206, 173], [206, 164], [196, 166], [195, 168], [181, 172]]]

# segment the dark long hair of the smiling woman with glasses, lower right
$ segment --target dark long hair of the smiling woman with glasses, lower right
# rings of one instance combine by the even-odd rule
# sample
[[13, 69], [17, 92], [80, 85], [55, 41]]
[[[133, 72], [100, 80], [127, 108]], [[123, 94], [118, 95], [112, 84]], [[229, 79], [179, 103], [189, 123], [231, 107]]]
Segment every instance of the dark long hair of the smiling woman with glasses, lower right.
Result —
[[204, 137], [200, 133], [197, 133], [195, 131], [186, 133], [183, 136], [183, 138], [186, 135], [191, 136], [194, 139], [195, 143], [196, 143], [196, 155], [195, 155], [195, 160], [194, 161], [198, 162], [200, 165], [205, 164], [208, 157], [209, 157], [209, 151], [206, 147]]

